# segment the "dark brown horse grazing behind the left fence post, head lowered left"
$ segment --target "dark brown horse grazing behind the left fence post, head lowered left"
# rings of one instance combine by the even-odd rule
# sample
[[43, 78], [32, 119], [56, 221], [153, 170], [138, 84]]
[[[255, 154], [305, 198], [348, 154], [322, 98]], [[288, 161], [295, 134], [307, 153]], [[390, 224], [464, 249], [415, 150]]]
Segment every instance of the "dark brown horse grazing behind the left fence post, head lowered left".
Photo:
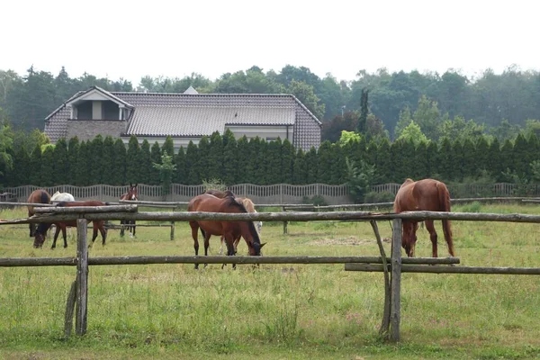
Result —
[[[105, 206], [108, 205], [108, 202], [98, 202], [98, 201], [87, 201], [87, 202], [58, 202], [57, 206], [60, 207], [71, 207], [71, 206]], [[90, 222], [90, 221], [88, 221]], [[47, 230], [50, 228], [52, 224], [51, 223], [45, 223], [41, 222], [40, 225], [38, 225], [38, 229], [35, 233], [34, 238], [34, 247], [42, 247], [43, 243], [45, 242], [45, 234], [47, 233]], [[55, 222], [56, 225], [56, 231], [54, 234], [54, 240], [52, 241], [52, 247], [56, 247], [56, 240], [58, 238], [58, 234], [60, 232], [60, 229], [62, 230], [62, 236], [64, 237], [64, 247], [67, 247], [67, 238], [66, 238], [66, 228], [67, 227], [76, 227], [76, 220], [70, 220], [66, 222]], [[102, 235], [103, 238], [103, 247], [105, 246], [105, 239], [107, 238], [107, 231], [105, 230], [105, 221], [104, 220], [92, 220], [92, 225], [94, 227], [94, 235], [92, 236], [92, 244], [94, 244], [95, 238], [97, 238], [97, 231]]]

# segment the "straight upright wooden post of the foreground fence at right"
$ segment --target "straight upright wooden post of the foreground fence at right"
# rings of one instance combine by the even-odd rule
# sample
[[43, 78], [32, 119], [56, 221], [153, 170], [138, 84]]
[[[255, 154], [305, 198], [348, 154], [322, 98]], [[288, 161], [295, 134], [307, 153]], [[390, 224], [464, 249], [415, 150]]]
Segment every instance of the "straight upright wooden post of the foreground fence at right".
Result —
[[400, 341], [401, 321], [401, 219], [394, 219], [392, 223], [392, 280], [391, 280], [391, 311], [390, 340]]

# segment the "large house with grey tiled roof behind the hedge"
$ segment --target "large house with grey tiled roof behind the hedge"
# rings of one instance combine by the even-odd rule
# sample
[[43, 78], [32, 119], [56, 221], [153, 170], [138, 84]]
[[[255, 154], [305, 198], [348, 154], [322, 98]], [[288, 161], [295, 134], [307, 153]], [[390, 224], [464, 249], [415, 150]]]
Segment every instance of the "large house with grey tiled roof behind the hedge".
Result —
[[321, 122], [293, 94], [183, 94], [108, 92], [98, 86], [73, 95], [45, 119], [45, 133], [58, 139], [111, 135], [128, 143], [163, 145], [170, 135], [175, 149], [190, 140], [231, 130], [236, 139], [289, 139], [295, 148], [319, 148]]

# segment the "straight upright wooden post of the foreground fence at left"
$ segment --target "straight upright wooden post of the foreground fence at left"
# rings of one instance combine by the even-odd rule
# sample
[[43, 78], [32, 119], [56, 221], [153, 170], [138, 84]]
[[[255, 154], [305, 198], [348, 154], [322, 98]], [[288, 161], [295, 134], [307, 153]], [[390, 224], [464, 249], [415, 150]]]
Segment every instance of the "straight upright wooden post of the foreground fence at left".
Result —
[[76, 220], [76, 318], [77, 335], [85, 335], [88, 305], [88, 245], [86, 239], [87, 222]]

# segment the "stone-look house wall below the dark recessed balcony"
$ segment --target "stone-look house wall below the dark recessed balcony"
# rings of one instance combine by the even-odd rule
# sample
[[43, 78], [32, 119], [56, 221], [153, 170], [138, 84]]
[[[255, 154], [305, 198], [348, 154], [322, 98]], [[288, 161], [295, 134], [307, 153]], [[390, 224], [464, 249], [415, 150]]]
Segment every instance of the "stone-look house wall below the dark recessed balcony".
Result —
[[126, 131], [126, 121], [88, 121], [88, 120], [68, 120], [67, 137], [71, 139], [77, 137], [79, 141], [94, 139], [101, 134], [103, 138], [111, 135], [112, 138], [119, 138], [120, 134]]

